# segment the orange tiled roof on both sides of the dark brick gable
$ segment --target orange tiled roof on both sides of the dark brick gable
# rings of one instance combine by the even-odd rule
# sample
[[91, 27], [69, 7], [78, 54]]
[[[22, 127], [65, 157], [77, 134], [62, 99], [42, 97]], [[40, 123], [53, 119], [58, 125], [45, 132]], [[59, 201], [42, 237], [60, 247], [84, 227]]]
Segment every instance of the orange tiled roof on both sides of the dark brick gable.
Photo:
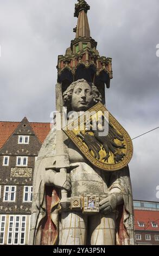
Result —
[[[21, 122], [0, 121], [0, 148], [9, 139]], [[50, 123], [29, 123], [41, 143], [50, 131]]]

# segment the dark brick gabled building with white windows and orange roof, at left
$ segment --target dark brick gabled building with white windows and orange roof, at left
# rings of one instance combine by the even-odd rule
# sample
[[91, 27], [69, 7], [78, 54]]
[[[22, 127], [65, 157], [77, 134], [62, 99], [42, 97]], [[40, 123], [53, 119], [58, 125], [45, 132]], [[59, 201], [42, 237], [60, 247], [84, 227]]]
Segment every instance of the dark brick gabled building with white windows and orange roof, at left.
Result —
[[28, 244], [36, 157], [49, 123], [0, 122], [0, 245]]

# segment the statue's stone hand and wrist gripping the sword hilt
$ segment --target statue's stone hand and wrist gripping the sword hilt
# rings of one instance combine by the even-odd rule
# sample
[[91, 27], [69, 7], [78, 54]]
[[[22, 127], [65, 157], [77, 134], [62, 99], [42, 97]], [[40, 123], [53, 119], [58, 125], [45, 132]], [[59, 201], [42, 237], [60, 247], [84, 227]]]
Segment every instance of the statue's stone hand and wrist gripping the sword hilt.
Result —
[[71, 179], [68, 173], [56, 173], [55, 171], [49, 169], [46, 170], [44, 176], [44, 184], [50, 186], [60, 187], [66, 191], [71, 190]]

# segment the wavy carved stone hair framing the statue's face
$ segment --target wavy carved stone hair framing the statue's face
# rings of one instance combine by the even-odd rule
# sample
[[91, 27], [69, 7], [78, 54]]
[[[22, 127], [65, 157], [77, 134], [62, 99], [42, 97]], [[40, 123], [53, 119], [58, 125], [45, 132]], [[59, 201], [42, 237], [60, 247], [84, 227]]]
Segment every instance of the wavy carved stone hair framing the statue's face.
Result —
[[[67, 88], [67, 90], [63, 93], [64, 106], [67, 106], [69, 103], [71, 103], [74, 87], [78, 83], [88, 83], [88, 82], [84, 79], [80, 79], [80, 80], [77, 80], [77, 81], [73, 82], [72, 84], [70, 84], [70, 86]], [[101, 98], [101, 94], [99, 93], [98, 88], [96, 86], [94, 86], [93, 83], [88, 83], [88, 84], [92, 88], [92, 95], [93, 95], [94, 103], [98, 103], [99, 101], [101, 102], [102, 98]]]

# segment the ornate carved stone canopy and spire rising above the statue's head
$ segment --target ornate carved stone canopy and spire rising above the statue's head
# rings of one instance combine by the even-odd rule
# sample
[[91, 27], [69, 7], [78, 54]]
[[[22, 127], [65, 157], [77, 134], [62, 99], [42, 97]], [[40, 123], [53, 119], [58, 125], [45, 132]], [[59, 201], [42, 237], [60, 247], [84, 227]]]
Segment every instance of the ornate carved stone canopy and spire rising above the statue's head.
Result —
[[109, 88], [112, 79], [112, 59], [99, 55], [97, 42], [90, 35], [88, 10], [90, 6], [85, 0], [78, 0], [75, 4], [74, 16], [78, 18], [77, 27], [74, 28], [76, 35], [66, 54], [58, 57], [58, 82], [62, 84], [64, 92], [73, 81], [84, 78], [87, 82], [93, 82], [105, 95], [105, 84]]

